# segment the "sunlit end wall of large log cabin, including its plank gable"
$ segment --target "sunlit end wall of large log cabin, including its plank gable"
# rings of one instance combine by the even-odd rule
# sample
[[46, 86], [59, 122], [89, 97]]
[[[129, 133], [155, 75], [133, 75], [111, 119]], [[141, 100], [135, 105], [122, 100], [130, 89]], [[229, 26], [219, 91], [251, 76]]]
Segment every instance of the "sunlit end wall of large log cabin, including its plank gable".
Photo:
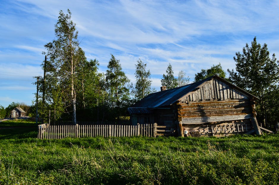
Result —
[[239, 89], [212, 79], [183, 96], [177, 112], [183, 131], [201, 135], [244, 133], [253, 129], [255, 102]]

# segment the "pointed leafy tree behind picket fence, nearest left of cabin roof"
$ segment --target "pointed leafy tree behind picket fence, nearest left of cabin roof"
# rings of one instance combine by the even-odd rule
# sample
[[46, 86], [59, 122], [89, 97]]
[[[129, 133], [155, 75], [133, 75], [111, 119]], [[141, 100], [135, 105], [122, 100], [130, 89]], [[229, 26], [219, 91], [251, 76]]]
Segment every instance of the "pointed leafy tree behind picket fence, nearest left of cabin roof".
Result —
[[107, 65], [106, 71], [106, 87], [109, 96], [109, 104], [117, 113], [117, 117], [126, 111], [129, 104], [129, 82], [125, 73], [122, 71], [120, 60], [115, 59], [111, 54], [111, 59]]

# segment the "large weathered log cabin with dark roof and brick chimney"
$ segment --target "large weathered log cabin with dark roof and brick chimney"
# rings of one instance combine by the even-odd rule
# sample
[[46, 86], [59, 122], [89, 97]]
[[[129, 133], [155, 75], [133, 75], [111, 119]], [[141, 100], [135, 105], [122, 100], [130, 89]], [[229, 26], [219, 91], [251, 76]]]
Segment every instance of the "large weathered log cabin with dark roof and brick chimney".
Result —
[[[256, 96], [213, 75], [202, 81], [149, 94], [128, 108], [132, 124], [157, 123], [159, 135], [261, 134]], [[165, 127], [163, 127], [165, 126]]]

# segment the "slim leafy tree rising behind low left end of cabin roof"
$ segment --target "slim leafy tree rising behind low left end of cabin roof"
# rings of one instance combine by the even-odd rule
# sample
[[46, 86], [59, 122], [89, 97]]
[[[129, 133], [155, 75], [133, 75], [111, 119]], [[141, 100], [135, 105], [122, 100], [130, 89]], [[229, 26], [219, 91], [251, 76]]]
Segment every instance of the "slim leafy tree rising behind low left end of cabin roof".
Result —
[[154, 89], [151, 89], [151, 80], [150, 80], [150, 71], [146, 71], [146, 64], [144, 64], [140, 59], [136, 64], [136, 84], [133, 90], [135, 100], [140, 100], [147, 96], [150, 93], [154, 92]]

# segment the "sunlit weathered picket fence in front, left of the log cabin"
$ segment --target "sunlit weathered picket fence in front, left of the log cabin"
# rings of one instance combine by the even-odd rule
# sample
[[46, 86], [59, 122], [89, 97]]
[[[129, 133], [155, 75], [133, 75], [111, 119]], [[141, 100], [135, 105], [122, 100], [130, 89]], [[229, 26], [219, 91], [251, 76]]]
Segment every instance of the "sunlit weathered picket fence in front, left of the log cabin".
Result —
[[[162, 135], [162, 126], [157, 123], [137, 124], [137, 125], [49, 125], [38, 126], [39, 139], [63, 139], [65, 137], [130, 137], [146, 136], [156, 137]], [[158, 132], [158, 133], [157, 133]]]

